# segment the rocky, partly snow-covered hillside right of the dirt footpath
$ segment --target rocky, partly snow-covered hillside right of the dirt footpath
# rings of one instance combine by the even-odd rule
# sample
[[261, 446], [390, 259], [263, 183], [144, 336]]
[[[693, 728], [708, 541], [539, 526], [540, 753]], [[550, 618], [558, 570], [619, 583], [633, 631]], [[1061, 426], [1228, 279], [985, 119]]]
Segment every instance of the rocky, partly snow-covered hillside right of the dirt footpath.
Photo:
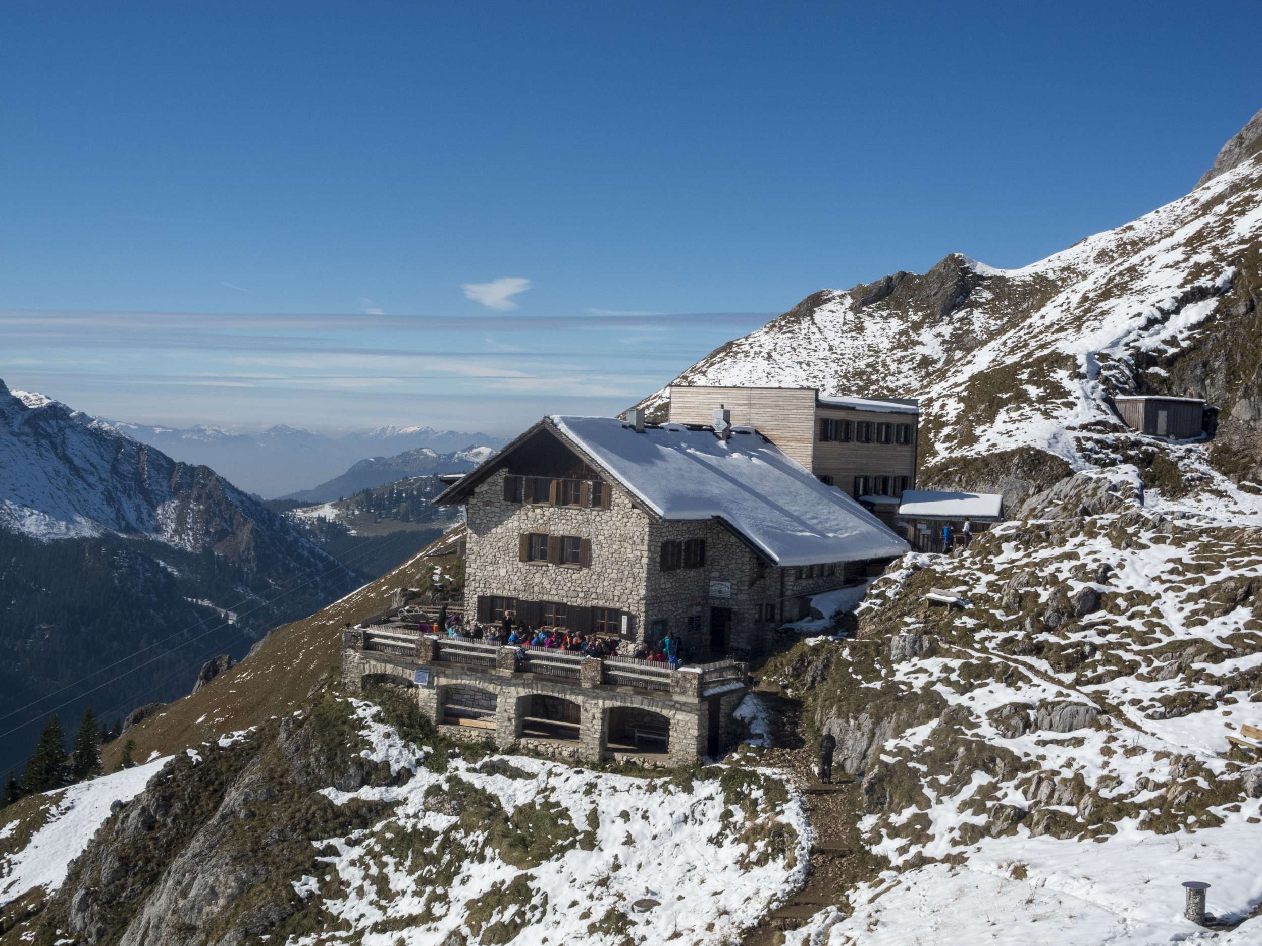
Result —
[[1262, 724], [1262, 531], [1145, 511], [1129, 473], [1112, 512], [907, 556], [857, 639], [785, 662], [881, 864], [791, 946], [1195, 938], [1191, 879], [1243, 923], [1219, 942], [1262, 936], [1262, 764], [1227, 740]]

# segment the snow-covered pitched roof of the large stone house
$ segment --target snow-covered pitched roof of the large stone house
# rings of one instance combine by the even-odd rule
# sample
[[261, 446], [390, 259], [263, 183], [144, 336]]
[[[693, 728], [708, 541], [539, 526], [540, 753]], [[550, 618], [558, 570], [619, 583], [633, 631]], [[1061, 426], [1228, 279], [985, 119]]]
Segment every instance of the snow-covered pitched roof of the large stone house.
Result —
[[640, 434], [615, 418], [551, 423], [663, 518], [721, 518], [777, 565], [907, 551], [876, 516], [747, 428], [722, 440], [709, 428], [680, 424]]

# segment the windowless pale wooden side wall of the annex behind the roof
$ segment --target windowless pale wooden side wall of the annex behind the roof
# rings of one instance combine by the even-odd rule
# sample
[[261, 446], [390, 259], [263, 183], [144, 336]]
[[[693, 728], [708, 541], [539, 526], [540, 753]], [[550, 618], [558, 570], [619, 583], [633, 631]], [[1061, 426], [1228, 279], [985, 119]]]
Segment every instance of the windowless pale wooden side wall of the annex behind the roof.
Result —
[[[670, 420], [712, 424], [714, 409], [732, 412], [733, 424], [756, 428], [806, 469], [815, 464], [815, 390], [810, 387], [670, 386]], [[888, 415], [886, 415], [888, 416]]]

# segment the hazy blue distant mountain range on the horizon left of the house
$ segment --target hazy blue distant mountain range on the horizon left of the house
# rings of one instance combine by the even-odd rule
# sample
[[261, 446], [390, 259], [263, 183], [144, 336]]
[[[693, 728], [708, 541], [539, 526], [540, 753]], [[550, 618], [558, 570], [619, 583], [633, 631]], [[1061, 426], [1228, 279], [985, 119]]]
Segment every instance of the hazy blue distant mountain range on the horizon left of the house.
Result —
[[[25, 396], [43, 397], [37, 394]], [[420, 448], [451, 454], [476, 447], [504, 445], [501, 438], [490, 434], [420, 425], [385, 425], [329, 436], [288, 424], [259, 431], [237, 431], [208, 424], [167, 428], [83, 416], [90, 423], [156, 447], [174, 459], [211, 467], [241, 488], [268, 498], [308, 491], [369, 457], [389, 457]]]

